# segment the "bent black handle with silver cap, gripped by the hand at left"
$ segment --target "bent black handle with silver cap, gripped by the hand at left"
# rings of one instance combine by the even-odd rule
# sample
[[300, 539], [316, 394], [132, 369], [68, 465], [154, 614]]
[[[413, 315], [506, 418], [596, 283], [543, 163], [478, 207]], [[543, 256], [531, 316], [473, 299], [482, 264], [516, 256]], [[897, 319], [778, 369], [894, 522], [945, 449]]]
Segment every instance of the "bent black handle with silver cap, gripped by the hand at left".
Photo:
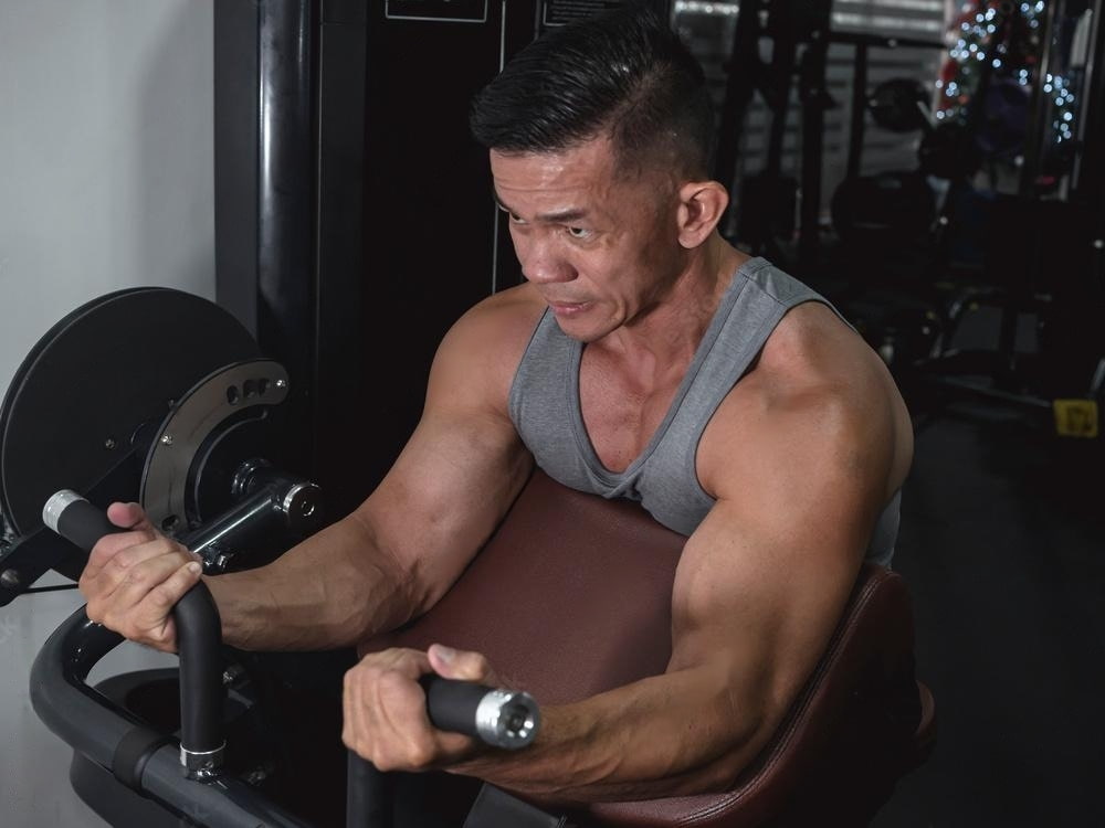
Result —
[[[105, 534], [124, 532], [107, 516], [69, 489], [54, 493], [42, 522], [86, 552]], [[180, 654], [180, 762], [197, 778], [222, 765], [222, 627], [211, 592], [197, 583], [172, 609]]]

